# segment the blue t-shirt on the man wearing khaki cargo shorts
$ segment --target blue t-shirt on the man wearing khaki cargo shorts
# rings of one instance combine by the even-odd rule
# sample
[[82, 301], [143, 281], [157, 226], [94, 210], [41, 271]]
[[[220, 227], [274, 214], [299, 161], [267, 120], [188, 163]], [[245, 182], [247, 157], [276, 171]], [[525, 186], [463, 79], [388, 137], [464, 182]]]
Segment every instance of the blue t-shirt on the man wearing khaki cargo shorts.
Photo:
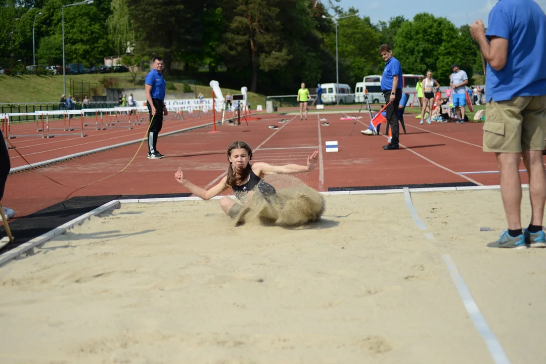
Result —
[[506, 65], [487, 65], [485, 101], [546, 95], [546, 15], [532, 0], [500, 0], [485, 33], [508, 39]]

